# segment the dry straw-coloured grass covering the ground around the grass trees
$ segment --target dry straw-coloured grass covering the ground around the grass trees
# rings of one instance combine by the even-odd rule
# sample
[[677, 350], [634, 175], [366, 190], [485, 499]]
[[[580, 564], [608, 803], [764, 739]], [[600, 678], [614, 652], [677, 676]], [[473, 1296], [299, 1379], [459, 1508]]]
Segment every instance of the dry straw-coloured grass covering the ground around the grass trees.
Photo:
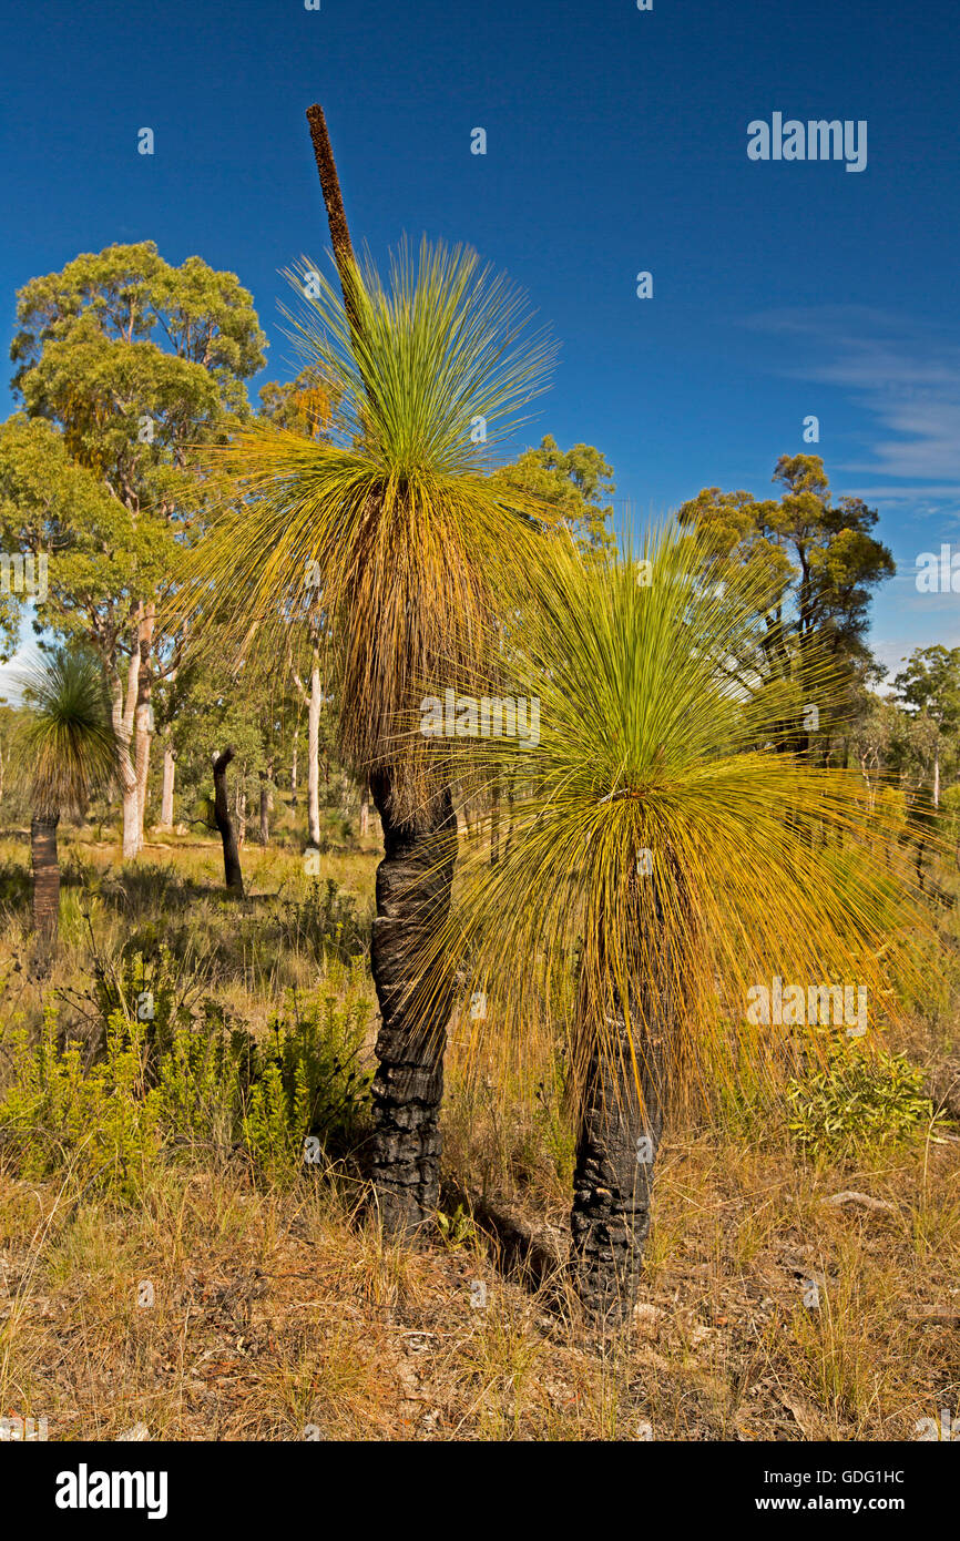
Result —
[[[166, 844], [196, 888], [219, 883], [216, 848]], [[361, 911], [373, 852], [371, 838], [325, 858]], [[111, 852], [82, 854], [105, 866]], [[293, 854], [247, 848], [245, 863], [254, 891], [297, 881]], [[89, 962], [69, 903], [60, 988]], [[214, 914], [219, 900], [194, 903]], [[119, 945], [123, 925], [103, 905], [100, 945]], [[18, 938], [14, 912], [8, 969]], [[240, 999], [242, 969], [223, 969], [217, 988]], [[29, 1019], [35, 986], [18, 991]], [[938, 1009], [935, 1028], [914, 1028], [932, 1069], [955, 1048], [949, 1023]], [[482, 1077], [467, 1083], [458, 1053], [451, 1183], [562, 1225], [561, 1099], [545, 1085], [504, 1099]], [[504, 1276], [468, 1216], [451, 1214], [445, 1239], [422, 1250], [384, 1245], [357, 1220], [361, 1190], [344, 1171], [308, 1170], [279, 1191], [194, 1160], [157, 1168], [131, 1210], [77, 1194], [68, 1173], [28, 1183], [8, 1160], [0, 1415], [46, 1418], [66, 1441], [116, 1439], [137, 1422], [153, 1439], [191, 1441], [872, 1441], [915, 1438], [917, 1419], [960, 1405], [958, 1140], [840, 1170], [800, 1162], [775, 1136], [673, 1130], [656, 1183], [632, 1330], [599, 1341], [562, 1281], [532, 1290]], [[824, 1202], [849, 1190], [889, 1208]]]

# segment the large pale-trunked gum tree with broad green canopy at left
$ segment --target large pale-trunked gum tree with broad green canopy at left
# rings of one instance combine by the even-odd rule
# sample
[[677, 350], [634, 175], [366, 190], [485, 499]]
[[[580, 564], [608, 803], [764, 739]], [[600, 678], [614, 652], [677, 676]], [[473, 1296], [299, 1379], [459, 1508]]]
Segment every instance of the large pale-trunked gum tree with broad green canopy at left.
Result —
[[191, 450], [225, 442], [250, 416], [243, 381], [263, 364], [263, 334], [233, 273], [200, 257], [173, 267], [149, 240], [32, 279], [17, 319], [12, 387], [23, 413], [0, 428], [3, 533], [49, 558], [37, 630], [82, 640], [111, 680], [133, 855], [153, 681], [170, 663], [156, 601], [179, 542], [203, 522]]

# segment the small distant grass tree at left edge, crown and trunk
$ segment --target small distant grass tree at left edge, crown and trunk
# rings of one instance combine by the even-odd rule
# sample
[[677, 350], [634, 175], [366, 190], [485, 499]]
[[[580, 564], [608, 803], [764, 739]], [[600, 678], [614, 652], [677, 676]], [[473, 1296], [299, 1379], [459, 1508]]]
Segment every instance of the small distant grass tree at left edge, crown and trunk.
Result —
[[111, 700], [97, 660], [57, 652], [23, 676], [28, 717], [17, 750], [32, 807], [34, 931], [42, 952], [57, 940], [63, 814], [83, 814], [119, 769]]

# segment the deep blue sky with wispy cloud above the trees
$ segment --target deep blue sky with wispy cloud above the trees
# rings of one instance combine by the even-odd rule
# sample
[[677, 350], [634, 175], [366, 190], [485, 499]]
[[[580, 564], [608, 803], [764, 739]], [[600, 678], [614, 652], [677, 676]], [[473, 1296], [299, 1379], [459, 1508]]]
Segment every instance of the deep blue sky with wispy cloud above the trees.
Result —
[[[596, 444], [635, 521], [704, 485], [766, 496], [781, 453], [814, 450], [897, 558], [877, 653], [960, 644], [960, 595], [914, 582], [920, 552], [960, 550], [946, 0], [39, 0], [5, 8], [0, 54], [9, 334], [29, 277], [153, 237], [240, 276], [263, 379], [290, 378], [279, 270], [327, 248], [304, 117], [321, 102], [356, 245], [465, 240], [559, 337], [527, 442]], [[866, 120], [866, 170], [747, 159], [747, 123], [775, 111]]]

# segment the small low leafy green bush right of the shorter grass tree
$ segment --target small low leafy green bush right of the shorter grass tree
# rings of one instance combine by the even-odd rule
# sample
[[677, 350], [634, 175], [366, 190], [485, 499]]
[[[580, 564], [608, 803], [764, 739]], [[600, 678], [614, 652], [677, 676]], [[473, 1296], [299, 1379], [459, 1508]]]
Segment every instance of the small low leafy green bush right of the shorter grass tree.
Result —
[[814, 1157], [843, 1160], [895, 1147], [937, 1122], [923, 1071], [906, 1054], [832, 1045], [821, 1068], [786, 1086], [789, 1128]]

